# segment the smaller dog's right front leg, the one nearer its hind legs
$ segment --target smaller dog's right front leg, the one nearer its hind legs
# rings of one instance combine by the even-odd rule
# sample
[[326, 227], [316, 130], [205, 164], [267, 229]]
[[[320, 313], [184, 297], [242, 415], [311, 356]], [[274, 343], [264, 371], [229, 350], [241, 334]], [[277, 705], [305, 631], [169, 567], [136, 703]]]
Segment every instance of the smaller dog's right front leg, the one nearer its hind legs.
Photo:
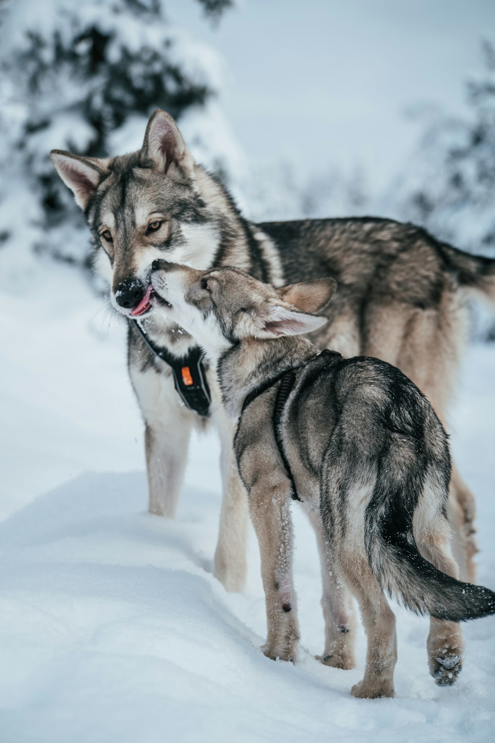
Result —
[[325, 648], [324, 652], [316, 658], [325, 666], [342, 669], [354, 668], [356, 628], [353, 598], [347, 587], [339, 580], [319, 511], [310, 508], [305, 510], [318, 542], [323, 584], [321, 608], [325, 620]]

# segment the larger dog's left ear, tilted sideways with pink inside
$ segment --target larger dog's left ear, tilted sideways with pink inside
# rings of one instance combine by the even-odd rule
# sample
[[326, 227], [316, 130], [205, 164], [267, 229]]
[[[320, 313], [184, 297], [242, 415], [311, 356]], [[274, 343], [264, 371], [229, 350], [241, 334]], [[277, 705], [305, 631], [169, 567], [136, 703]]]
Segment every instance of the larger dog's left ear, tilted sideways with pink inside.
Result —
[[62, 181], [73, 192], [82, 210], [108, 173], [108, 159], [80, 158], [62, 149], [53, 149], [50, 158]]

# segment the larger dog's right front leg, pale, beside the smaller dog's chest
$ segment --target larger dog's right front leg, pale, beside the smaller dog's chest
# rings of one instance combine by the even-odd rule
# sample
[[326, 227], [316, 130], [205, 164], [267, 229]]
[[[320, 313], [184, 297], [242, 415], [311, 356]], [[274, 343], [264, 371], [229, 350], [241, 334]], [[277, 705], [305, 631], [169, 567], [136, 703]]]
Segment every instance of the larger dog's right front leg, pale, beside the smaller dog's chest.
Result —
[[227, 591], [242, 591], [246, 581], [246, 539], [249, 523], [248, 499], [240, 481], [232, 447], [235, 426], [232, 421], [216, 421], [222, 453], [223, 500], [220, 529], [214, 556], [215, 577]]

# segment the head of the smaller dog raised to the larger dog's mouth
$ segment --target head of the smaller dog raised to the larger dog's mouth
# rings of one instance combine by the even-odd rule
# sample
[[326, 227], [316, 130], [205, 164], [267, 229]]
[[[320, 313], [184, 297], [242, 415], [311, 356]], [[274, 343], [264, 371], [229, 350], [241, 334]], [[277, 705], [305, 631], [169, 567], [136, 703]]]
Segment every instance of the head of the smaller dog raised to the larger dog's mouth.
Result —
[[162, 311], [217, 357], [246, 338], [269, 339], [318, 330], [321, 311], [335, 292], [334, 279], [278, 289], [238, 268], [197, 270], [156, 261], [151, 272]]

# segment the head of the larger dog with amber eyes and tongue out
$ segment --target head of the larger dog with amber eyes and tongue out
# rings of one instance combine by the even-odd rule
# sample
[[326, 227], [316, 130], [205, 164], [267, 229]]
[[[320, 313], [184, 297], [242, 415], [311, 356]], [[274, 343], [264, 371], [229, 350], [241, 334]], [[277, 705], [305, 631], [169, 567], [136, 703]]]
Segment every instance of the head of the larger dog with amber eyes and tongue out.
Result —
[[174, 120], [157, 110], [142, 149], [117, 158], [53, 150], [53, 165], [85, 212], [96, 244], [94, 267], [126, 316], [149, 311], [154, 259], [212, 265], [219, 236], [194, 165]]

